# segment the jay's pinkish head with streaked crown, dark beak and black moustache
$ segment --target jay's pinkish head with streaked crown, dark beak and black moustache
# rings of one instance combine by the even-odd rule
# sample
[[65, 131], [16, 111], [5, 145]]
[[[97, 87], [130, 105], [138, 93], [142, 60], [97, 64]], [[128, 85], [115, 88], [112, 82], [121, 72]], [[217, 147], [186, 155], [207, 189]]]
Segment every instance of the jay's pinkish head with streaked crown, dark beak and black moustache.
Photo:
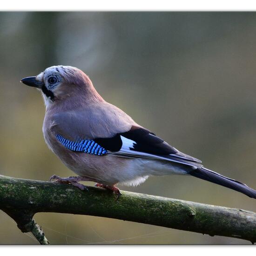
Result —
[[77, 101], [77, 98], [81, 101], [102, 99], [89, 77], [76, 67], [47, 67], [37, 76], [23, 78], [21, 82], [41, 90], [47, 106], [67, 99], [74, 101]]

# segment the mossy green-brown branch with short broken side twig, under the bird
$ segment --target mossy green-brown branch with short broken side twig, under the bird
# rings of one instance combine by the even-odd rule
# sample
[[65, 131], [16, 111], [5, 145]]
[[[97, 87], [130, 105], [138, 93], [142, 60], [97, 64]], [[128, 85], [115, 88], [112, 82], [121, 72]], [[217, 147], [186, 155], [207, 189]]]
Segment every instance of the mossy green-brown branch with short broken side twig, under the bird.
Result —
[[81, 191], [68, 184], [17, 179], [0, 175], [0, 209], [22, 232], [32, 232], [48, 244], [32, 219], [37, 212], [57, 212], [141, 222], [210, 236], [229, 236], [256, 242], [256, 213], [196, 202], [88, 187]]

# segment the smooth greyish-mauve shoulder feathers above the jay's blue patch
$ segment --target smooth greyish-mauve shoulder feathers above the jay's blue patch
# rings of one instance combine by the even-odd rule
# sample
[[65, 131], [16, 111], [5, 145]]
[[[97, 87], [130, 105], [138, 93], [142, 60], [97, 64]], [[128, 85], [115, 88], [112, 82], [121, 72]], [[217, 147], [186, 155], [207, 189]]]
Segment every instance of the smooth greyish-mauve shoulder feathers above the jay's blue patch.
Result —
[[137, 125], [121, 109], [107, 102], [90, 104], [81, 110], [56, 113], [51, 119], [51, 130], [72, 141], [112, 138]]

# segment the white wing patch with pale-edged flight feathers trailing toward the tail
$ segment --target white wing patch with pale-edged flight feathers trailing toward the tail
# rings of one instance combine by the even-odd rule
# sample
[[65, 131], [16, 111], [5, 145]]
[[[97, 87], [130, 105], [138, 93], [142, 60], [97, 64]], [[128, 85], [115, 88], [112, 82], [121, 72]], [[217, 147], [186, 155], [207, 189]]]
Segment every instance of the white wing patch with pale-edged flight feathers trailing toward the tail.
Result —
[[177, 155], [177, 156], [175, 156], [173, 154], [166, 155], [166, 156], [164, 156], [164, 155], [153, 155], [153, 154], [149, 154], [149, 153], [145, 153], [145, 152], [141, 152], [141, 151], [136, 151], [136, 150], [133, 150], [134, 145], [136, 144], [135, 141], [127, 139], [123, 136], [121, 136], [121, 140], [122, 140], [121, 149], [117, 152], [108, 151], [108, 154], [118, 155], [118, 156], [121, 156], [121, 157], [133, 157], [133, 158], [140, 157], [140, 158], [165, 160], [165, 161], [170, 161], [170, 162], [177, 162], [177, 163], [186, 164], [186, 165], [189, 165], [189, 166], [192, 166], [192, 167], [195, 167], [197, 165], [195, 162], [189, 162], [189, 159], [185, 159], [184, 157], [181, 157], [179, 155]]

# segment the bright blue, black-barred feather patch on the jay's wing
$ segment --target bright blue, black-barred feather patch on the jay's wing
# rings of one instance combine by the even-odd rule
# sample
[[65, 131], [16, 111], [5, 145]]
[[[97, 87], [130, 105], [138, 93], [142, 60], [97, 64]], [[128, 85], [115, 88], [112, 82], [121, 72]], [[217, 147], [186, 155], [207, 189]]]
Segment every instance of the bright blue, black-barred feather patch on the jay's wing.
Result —
[[93, 140], [82, 140], [79, 142], [69, 141], [63, 136], [57, 134], [56, 138], [61, 144], [72, 151], [84, 152], [92, 155], [106, 155], [108, 151], [102, 148], [98, 143]]

